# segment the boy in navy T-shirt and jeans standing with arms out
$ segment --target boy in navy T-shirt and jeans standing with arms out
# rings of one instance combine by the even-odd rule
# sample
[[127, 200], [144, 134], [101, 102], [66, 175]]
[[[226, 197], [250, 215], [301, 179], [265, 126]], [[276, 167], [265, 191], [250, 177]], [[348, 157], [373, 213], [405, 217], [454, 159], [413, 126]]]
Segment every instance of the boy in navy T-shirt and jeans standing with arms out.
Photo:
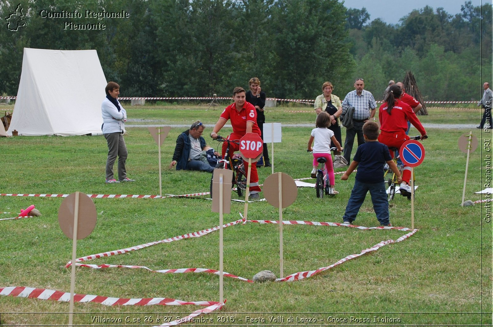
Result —
[[387, 163], [395, 173], [398, 183], [402, 182], [402, 177], [399, 169], [390, 158], [387, 145], [377, 140], [378, 134], [377, 123], [368, 121], [363, 125], [363, 136], [366, 143], [358, 147], [352, 163], [341, 177], [341, 180], [347, 180], [352, 171], [358, 167], [351, 197], [343, 216], [344, 224], [352, 224], [356, 220], [356, 215], [365, 200], [366, 193], [370, 191], [373, 209], [380, 225], [392, 226], [389, 221], [384, 164]]

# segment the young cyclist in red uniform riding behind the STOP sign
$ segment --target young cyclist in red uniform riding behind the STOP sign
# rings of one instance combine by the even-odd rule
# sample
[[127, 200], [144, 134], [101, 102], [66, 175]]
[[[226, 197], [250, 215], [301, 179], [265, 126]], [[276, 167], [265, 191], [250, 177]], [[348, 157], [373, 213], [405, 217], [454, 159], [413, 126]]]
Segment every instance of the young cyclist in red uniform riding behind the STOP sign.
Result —
[[[242, 87], [235, 87], [233, 90], [233, 101], [234, 103], [227, 106], [222, 112], [219, 120], [212, 129], [211, 137], [213, 139], [217, 138], [217, 133], [226, 124], [228, 120], [231, 121], [231, 126], [233, 127], [233, 133], [228, 136], [229, 140], [239, 140], [246, 133], [256, 133], [260, 136], [260, 128], [257, 125], [257, 112], [255, 107], [246, 102], [246, 92]], [[226, 154], [227, 144], [222, 145], [222, 157]], [[235, 151], [240, 150], [240, 146], [237, 144], [231, 144], [229, 148], [229, 155], [232, 156]], [[248, 162], [243, 161], [245, 164], [245, 171], [248, 172]], [[251, 176], [250, 176], [250, 199], [259, 198], [258, 193], [261, 192], [258, 186], [258, 174], [257, 174], [257, 163], [252, 163], [251, 165]]]

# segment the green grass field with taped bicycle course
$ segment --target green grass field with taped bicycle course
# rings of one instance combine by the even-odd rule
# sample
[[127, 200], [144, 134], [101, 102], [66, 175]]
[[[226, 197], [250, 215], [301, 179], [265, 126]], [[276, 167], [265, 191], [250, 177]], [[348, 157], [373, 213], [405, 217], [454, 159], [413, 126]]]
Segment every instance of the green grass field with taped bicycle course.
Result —
[[[129, 127], [127, 172], [135, 183], [106, 185], [106, 140], [103, 136], [39, 136], [0, 138], [0, 193], [14, 194], [159, 194], [157, 145], [145, 124], [191, 124], [201, 119], [208, 127], [221, 110], [207, 106], [126, 106]], [[13, 106], [0, 109], [12, 110]], [[301, 112], [299, 112], [301, 111]], [[476, 123], [477, 109], [429, 109], [423, 123]], [[311, 107], [270, 110], [267, 122], [314, 123]], [[275, 144], [275, 171], [293, 178], [308, 177], [311, 154], [306, 144], [313, 127], [283, 127], [282, 143]], [[162, 147], [164, 194], [209, 191], [208, 173], [169, 170], [176, 137], [186, 128], [173, 127]], [[224, 128], [220, 134], [231, 130]], [[427, 129], [426, 157], [415, 169], [419, 188], [415, 200], [415, 228], [411, 238], [345, 262], [314, 277], [289, 283], [250, 284], [224, 279], [226, 305], [204, 315], [212, 322], [185, 326], [295, 326], [295, 325], [492, 325], [492, 222], [485, 204], [461, 207], [466, 155], [458, 137], [468, 130]], [[411, 135], [416, 135], [412, 129]], [[489, 133], [473, 131], [479, 147], [471, 153], [466, 197], [485, 188]], [[344, 128], [343, 128], [344, 139]], [[269, 148], [270, 150], [270, 148]], [[269, 151], [270, 152], [270, 151]], [[353, 154], [355, 148], [353, 149]], [[260, 182], [271, 168], [259, 168]], [[338, 169], [340, 171], [341, 169]], [[296, 201], [283, 210], [284, 220], [342, 222], [354, 184], [336, 175], [336, 197], [317, 199], [313, 188], [299, 188]], [[204, 199], [202, 199], [204, 198]], [[77, 257], [159, 241], [218, 225], [211, 201], [198, 199], [94, 199], [97, 225], [78, 241]], [[0, 218], [35, 204], [42, 216], [0, 221], [0, 287], [30, 286], [70, 291], [71, 241], [58, 225], [62, 198], [0, 196]], [[232, 202], [224, 222], [240, 219], [244, 204]], [[248, 219], [277, 220], [278, 209], [266, 202], [248, 206]], [[411, 203], [396, 197], [390, 207], [394, 226], [411, 227]], [[378, 226], [369, 197], [356, 224]], [[329, 266], [349, 254], [396, 240], [407, 232], [358, 230], [347, 227], [286, 225], [284, 276]], [[91, 260], [89, 264], [141, 265], [152, 270], [174, 268], [218, 269], [219, 233], [159, 244], [126, 254]], [[264, 269], [279, 271], [279, 226], [247, 223], [224, 230], [224, 271], [251, 279]], [[75, 292], [112, 297], [168, 297], [184, 301], [218, 301], [218, 277], [201, 274], [161, 274], [143, 269], [76, 269]], [[201, 306], [113, 306], [76, 303], [74, 324], [79, 326], [154, 326], [166, 317], [183, 317]], [[5, 326], [66, 325], [69, 303], [0, 296], [0, 324]], [[374, 318], [374, 316], [378, 318]], [[98, 323], [95, 317], [122, 319]], [[152, 321], [149, 321], [152, 319]], [[250, 317], [250, 318], [247, 318]], [[292, 317], [292, 321], [289, 319]], [[329, 317], [331, 317], [329, 319]], [[387, 317], [387, 318], [386, 318]], [[160, 322], [157, 322], [157, 318]], [[276, 318], [277, 323], [269, 321]], [[312, 318], [317, 322], [310, 321]], [[256, 319], [256, 320], [255, 320]], [[321, 321], [323, 319], [323, 321]], [[345, 321], [347, 320], [347, 322]], [[397, 321], [400, 319], [400, 321]], [[233, 321], [234, 320], [234, 321]]]

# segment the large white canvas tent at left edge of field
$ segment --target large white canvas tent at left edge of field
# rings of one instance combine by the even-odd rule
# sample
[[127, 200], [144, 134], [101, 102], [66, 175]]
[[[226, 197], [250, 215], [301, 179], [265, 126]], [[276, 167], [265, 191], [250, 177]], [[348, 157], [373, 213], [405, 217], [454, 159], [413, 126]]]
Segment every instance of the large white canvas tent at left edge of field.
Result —
[[106, 78], [96, 50], [24, 48], [8, 135], [102, 134]]

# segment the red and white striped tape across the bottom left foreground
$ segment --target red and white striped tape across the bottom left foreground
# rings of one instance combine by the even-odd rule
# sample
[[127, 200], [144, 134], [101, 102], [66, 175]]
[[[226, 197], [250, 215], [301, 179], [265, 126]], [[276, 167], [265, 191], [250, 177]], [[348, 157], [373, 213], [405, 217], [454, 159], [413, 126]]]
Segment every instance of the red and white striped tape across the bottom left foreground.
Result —
[[[1, 287], [0, 295], [10, 295], [16, 297], [28, 297], [41, 300], [54, 300], [60, 302], [70, 301], [70, 292], [61, 292], [53, 289], [34, 288], [34, 287]], [[196, 310], [186, 317], [176, 319], [173, 322], [164, 323], [159, 326], [176, 326], [182, 323], [186, 323], [203, 313], [211, 313], [224, 306], [224, 303], [214, 301], [182, 301], [165, 297], [152, 297], [152, 298], [122, 298], [122, 297], [109, 297], [100, 295], [84, 295], [73, 294], [74, 302], [93, 302], [103, 305], [207, 305], [207, 308]]]

